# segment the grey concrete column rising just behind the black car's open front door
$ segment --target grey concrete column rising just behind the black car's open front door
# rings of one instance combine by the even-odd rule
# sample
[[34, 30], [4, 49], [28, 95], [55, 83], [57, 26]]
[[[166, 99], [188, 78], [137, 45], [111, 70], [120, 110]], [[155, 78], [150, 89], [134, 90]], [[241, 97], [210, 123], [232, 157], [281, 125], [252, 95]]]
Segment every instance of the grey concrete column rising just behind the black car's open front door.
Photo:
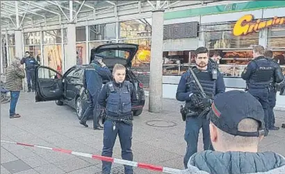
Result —
[[65, 53], [65, 71], [76, 65], [76, 31], [75, 24], [67, 24], [67, 46]]

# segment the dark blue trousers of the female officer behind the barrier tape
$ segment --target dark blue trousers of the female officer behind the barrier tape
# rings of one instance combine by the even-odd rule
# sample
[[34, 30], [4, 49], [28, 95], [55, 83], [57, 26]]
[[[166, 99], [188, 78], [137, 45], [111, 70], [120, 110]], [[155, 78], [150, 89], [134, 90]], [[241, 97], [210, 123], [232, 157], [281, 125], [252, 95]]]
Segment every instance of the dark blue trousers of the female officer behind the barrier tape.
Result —
[[[117, 134], [119, 134], [120, 144], [122, 148], [122, 159], [133, 161], [133, 153], [131, 151], [131, 139], [133, 134], [133, 125], [128, 125], [122, 122], [114, 122], [115, 130], [113, 130], [113, 121], [106, 120], [104, 122], [104, 139], [102, 156], [112, 157], [113, 147]], [[102, 162], [102, 173], [111, 173], [111, 162]], [[125, 174], [133, 174], [132, 166], [124, 166]]]

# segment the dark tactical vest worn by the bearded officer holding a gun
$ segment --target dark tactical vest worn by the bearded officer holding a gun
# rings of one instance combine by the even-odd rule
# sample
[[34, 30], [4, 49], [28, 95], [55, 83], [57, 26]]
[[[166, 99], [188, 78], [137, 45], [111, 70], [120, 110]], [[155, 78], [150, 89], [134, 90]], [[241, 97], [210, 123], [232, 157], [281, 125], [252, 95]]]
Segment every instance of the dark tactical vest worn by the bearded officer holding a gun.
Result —
[[[199, 71], [199, 70], [193, 70], [195, 72], [195, 75], [197, 76], [197, 79], [199, 80], [202, 88], [204, 89], [204, 92], [206, 96], [209, 98], [212, 98], [215, 96], [215, 80], [212, 79], [211, 72], [208, 71]], [[195, 79], [193, 78], [192, 74], [188, 70], [186, 73], [188, 73], [188, 76], [186, 78], [187, 81], [187, 92], [193, 92], [193, 94], [199, 94], [199, 86], [195, 82]]]

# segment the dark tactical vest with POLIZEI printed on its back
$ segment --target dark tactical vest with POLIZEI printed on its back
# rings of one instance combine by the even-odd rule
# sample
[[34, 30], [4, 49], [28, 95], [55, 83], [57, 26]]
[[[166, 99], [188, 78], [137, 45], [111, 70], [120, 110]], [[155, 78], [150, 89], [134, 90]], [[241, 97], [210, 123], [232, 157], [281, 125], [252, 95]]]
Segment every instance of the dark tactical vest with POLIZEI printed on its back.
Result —
[[266, 58], [261, 58], [257, 60], [252, 60], [256, 64], [256, 69], [252, 73], [249, 80], [252, 85], [265, 85], [266, 87], [272, 82], [272, 77], [274, 75], [273, 64]]

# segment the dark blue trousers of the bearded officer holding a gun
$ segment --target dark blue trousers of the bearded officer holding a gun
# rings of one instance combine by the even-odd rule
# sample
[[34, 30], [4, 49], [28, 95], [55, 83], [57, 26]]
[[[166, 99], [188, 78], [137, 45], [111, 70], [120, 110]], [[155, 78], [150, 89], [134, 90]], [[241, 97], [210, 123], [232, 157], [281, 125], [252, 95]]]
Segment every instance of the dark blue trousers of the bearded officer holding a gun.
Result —
[[199, 137], [199, 130], [202, 128], [204, 150], [213, 150], [210, 139], [209, 120], [206, 118], [197, 119], [197, 117], [188, 116], [186, 118], [186, 129], [184, 139], [187, 143], [186, 155], [184, 156], [184, 167], [187, 168], [187, 163], [190, 157], [197, 153], [197, 143]]

